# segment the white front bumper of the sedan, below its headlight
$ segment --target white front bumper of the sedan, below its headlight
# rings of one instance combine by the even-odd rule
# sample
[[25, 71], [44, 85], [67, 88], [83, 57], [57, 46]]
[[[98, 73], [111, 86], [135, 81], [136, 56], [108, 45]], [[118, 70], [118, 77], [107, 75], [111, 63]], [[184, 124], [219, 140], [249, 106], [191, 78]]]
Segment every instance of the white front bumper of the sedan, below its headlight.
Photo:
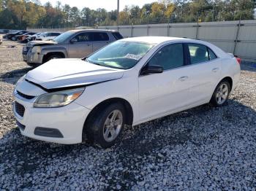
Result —
[[[15, 111], [15, 106], [13, 107], [15, 119], [18, 121], [18, 127], [23, 136], [59, 144], [82, 142], [83, 125], [90, 112], [89, 109], [75, 102], [59, 108], [34, 108], [36, 98], [26, 100], [15, 93], [15, 101], [25, 108], [22, 117], [18, 114], [20, 112]], [[45, 136], [38, 136], [36, 135], [38, 128], [57, 130], [62, 137], [48, 136], [47, 132]]]

